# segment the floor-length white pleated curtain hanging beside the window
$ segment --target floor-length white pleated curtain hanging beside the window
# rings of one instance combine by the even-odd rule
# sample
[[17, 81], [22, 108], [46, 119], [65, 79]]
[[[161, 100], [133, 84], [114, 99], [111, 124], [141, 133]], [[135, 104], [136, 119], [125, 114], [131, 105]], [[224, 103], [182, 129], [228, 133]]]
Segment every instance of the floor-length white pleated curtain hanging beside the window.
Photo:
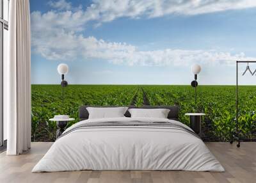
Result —
[[4, 70], [6, 154], [17, 155], [31, 145], [29, 0], [11, 0], [9, 17], [9, 52], [8, 61], [4, 63], [7, 68]]

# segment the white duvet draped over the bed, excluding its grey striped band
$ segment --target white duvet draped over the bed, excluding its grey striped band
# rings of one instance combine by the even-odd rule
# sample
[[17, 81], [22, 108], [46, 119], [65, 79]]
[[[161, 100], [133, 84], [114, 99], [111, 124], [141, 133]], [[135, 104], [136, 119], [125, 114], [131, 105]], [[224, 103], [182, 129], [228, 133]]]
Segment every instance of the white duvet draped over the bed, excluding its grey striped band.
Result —
[[[132, 120], [183, 125], [162, 118]], [[112, 121], [129, 122], [131, 118], [84, 120], [66, 131], [81, 123]], [[225, 171], [201, 139], [164, 127], [77, 129], [54, 142], [32, 172], [72, 170]]]

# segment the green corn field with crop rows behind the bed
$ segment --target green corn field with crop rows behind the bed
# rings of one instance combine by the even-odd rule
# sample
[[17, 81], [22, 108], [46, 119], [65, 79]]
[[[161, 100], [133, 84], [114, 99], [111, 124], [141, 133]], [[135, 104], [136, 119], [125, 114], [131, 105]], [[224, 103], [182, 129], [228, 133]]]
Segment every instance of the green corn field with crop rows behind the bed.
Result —
[[[180, 107], [179, 120], [189, 125], [185, 113], [200, 112], [205, 141], [229, 141], [236, 130], [236, 86], [198, 86], [198, 101], [191, 86], [181, 85], [68, 85], [64, 104], [60, 85], [31, 85], [32, 141], [54, 141], [54, 115], [65, 114], [79, 122], [78, 107], [92, 106], [173, 106]], [[239, 86], [239, 138], [255, 141], [256, 86]]]

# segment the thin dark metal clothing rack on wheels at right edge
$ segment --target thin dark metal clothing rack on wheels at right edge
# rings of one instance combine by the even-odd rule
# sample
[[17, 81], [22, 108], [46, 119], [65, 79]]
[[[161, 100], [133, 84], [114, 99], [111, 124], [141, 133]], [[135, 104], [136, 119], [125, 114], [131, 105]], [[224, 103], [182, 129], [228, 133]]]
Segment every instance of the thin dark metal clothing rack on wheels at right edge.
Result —
[[[256, 61], [236, 61], [236, 136], [237, 136], [237, 147], [240, 147], [239, 129], [238, 129], [238, 65], [239, 63], [256, 63]], [[231, 136], [230, 143], [233, 143], [233, 133]]]

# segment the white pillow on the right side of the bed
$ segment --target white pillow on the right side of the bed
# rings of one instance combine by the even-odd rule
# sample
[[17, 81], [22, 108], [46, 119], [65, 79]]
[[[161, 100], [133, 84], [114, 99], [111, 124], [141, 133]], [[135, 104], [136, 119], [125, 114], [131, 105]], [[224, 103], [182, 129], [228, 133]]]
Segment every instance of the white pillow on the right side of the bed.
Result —
[[170, 109], [128, 109], [132, 118], [167, 118]]

